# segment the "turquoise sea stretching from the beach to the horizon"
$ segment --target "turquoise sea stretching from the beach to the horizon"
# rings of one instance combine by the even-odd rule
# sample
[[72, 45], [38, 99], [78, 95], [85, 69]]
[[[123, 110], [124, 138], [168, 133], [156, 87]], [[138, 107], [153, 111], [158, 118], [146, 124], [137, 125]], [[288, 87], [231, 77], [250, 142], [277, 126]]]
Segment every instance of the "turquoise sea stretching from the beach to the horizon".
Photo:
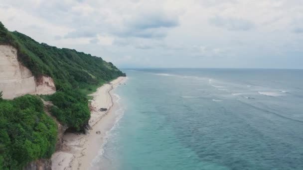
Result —
[[303, 170], [303, 70], [125, 72], [92, 169]]

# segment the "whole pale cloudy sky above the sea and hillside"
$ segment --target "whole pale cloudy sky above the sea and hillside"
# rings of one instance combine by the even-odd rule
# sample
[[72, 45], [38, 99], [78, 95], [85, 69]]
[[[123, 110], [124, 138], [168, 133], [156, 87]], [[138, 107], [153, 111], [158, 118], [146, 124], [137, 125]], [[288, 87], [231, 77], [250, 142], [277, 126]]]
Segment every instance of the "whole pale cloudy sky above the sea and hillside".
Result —
[[0, 0], [0, 21], [119, 68], [303, 69], [303, 0]]

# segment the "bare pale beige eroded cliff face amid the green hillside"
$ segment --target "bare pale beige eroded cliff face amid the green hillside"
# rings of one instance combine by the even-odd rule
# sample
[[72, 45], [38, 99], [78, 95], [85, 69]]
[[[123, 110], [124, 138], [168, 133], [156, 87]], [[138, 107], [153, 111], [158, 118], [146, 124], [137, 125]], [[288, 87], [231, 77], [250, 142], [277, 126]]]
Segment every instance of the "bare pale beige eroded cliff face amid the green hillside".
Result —
[[0, 91], [4, 99], [13, 99], [24, 94], [52, 94], [56, 88], [50, 77], [35, 78], [19, 63], [15, 48], [0, 45]]

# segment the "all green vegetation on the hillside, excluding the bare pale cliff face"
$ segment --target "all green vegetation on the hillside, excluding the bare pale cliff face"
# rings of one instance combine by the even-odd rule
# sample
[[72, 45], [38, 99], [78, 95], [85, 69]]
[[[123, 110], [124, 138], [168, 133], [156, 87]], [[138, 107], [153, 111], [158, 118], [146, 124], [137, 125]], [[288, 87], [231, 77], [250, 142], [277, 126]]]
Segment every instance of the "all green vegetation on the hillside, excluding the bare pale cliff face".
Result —
[[[1, 22], [0, 44], [16, 48], [18, 61], [36, 78], [54, 80], [57, 92], [40, 97], [52, 101], [51, 114], [75, 131], [83, 131], [90, 118], [86, 95], [105, 82], [126, 76], [100, 57], [38, 43], [19, 32], [9, 32]], [[37, 96], [0, 101], [0, 170], [18, 170], [35, 159], [49, 158], [56, 136], [56, 125], [43, 112]]]

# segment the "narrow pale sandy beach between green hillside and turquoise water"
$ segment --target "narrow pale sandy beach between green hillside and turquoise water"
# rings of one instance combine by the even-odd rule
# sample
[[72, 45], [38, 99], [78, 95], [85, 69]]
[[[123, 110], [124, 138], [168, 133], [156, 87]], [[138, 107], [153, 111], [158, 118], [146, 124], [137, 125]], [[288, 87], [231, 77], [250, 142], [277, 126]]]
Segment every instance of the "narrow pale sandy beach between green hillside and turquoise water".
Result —
[[[126, 77], [119, 77], [111, 84], [102, 85], [93, 94], [89, 125], [92, 127], [87, 134], [67, 133], [63, 137], [63, 149], [52, 155], [52, 170], [88, 170], [92, 161], [98, 155], [103, 144], [103, 138], [116, 120], [112, 106], [114, 105], [112, 89], [123, 84]], [[108, 108], [107, 111], [99, 111]], [[100, 131], [100, 134], [99, 134]], [[98, 133], [98, 134], [97, 134]]]

